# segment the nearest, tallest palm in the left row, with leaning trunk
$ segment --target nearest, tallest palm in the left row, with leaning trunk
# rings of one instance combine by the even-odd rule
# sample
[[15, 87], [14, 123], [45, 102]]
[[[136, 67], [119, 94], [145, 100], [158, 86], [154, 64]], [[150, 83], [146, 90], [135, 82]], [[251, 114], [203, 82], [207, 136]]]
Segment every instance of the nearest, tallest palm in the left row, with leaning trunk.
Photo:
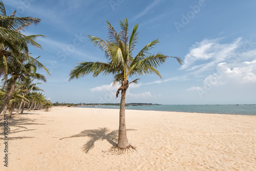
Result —
[[16, 11], [14, 11], [11, 16], [7, 16], [5, 6], [3, 2], [0, 1], [0, 76], [4, 75], [6, 81], [8, 76], [11, 76], [12, 79], [10, 92], [0, 108], [0, 114], [12, 98], [16, 80], [20, 79], [23, 74], [28, 73], [30, 70], [24, 66], [24, 63], [31, 63], [47, 71], [40, 62], [29, 55], [28, 51], [28, 45], [41, 48], [35, 41], [35, 38], [43, 35], [25, 36], [20, 33], [20, 31], [24, 31], [26, 27], [32, 24], [38, 24], [40, 19], [15, 17], [15, 12]]

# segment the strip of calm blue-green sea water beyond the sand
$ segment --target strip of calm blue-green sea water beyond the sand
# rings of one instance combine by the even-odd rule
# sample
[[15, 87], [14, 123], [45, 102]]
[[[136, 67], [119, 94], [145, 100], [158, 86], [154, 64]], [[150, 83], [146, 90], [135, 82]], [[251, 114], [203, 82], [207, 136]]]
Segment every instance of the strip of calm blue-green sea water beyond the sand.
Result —
[[[80, 106], [78, 108], [92, 108], [92, 106]], [[119, 109], [120, 106], [101, 105], [94, 108], [102, 109]], [[253, 115], [256, 116], [256, 105], [138, 105], [125, 106], [127, 110], [144, 110], [144, 111], [177, 111], [192, 113], [214, 113], [214, 114], [232, 114], [232, 115]]]

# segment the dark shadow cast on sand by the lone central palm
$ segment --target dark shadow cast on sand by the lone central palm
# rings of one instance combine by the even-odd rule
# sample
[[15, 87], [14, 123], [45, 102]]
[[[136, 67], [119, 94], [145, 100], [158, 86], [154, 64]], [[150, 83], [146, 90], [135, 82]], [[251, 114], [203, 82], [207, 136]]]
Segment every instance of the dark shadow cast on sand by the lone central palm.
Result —
[[[126, 131], [137, 131], [134, 129], [127, 129]], [[86, 142], [86, 144], [83, 145], [82, 149], [85, 153], [88, 153], [90, 149], [94, 147], [94, 143], [99, 140], [107, 140], [110, 144], [113, 146], [117, 145], [118, 141], [118, 130], [114, 130], [110, 132], [110, 130], [106, 127], [99, 128], [97, 130], [84, 130], [80, 132], [79, 134], [65, 137], [65, 138], [74, 138], [74, 137], [90, 137], [91, 139]], [[65, 138], [61, 138], [65, 139]]]

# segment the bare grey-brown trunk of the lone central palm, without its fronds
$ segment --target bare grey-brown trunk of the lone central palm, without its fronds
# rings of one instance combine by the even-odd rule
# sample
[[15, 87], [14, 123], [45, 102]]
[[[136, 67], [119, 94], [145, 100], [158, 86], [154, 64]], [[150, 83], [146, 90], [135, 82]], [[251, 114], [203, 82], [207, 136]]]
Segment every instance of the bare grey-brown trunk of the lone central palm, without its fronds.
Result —
[[130, 144], [126, 135], [126, 126], [125, 126], [125, 94], [126, 89], [122, 90], [121, 93], [121, 102], [120, 102], [120, 113], [119, 113], [119, 134], [118, 134], [118, 143], [119, 148], [126, 148]]

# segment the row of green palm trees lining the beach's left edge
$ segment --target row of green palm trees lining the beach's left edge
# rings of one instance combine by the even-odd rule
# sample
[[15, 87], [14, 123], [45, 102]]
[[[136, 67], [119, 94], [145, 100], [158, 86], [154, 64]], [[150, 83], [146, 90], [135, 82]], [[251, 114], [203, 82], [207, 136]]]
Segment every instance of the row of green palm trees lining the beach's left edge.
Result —
[[33, 46], [42, 49], [35, 39], [44, 35], [26, 36], [22, 33], [29, 26], [37, 25], [40, 19], [15, 17], [15, 13], [16, 11], [8, 16], [3, 2], [0, 1], [0, 77], [2, 78], [0, 114], [6, 114], [9, 108], [8, 116], [11, 116], [15, 106], [18, 106], [16, 113], [19, 113], [20, 109], [23, 112], [28, 104], [38, 106], [38, 102], [33, 103], [33, 100], [28, 98], [33, 93], [37, 94], [36, 98], [42, 96], [32, 92], [37, 89], [34, 80], [46, 82], [46, 77], [38, 74], [37, 70], [45, 70], [50, 75], [46, 67], [37, 60], [39, 57], [33, 58], [28, 48]]

